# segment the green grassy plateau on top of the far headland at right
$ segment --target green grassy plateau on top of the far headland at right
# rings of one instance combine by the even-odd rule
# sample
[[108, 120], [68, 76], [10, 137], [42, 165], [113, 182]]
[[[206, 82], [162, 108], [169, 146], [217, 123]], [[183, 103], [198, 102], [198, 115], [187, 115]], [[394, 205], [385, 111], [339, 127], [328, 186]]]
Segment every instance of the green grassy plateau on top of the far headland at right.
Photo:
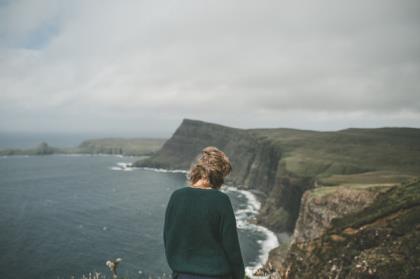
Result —
[[420, 173], [420, 129], [379, 128], [318, 132], [252, 129], [283, 152], [287, 169], [299, 176], [330, 176], [375, 170]]

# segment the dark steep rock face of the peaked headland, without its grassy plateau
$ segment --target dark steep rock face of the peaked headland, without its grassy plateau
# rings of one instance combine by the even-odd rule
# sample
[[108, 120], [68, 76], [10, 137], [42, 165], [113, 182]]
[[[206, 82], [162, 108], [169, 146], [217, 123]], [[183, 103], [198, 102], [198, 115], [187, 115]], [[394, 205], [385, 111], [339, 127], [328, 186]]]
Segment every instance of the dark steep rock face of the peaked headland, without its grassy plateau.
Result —
[[[267, 201], [259, 222], [275, 230], [291, 231], [297, 218], [300, 196], [309, 184], [306, 178], [283, 179], [282, 166], [279, 165], [282, 151], [253, 130], [184, 119], [162, 149], [137, 161], [134, 166], [188, 169], [194, 157], [209, 145], [223, 150], [232, 162], [232, 173], [226, 178], [226, 184], [254, 190]], [[287, 185], [274, 187], [279, 184]], [[279, 201], [272, 200], [280, 196]], [[278, 206], [278, 202], [282, 206]]]

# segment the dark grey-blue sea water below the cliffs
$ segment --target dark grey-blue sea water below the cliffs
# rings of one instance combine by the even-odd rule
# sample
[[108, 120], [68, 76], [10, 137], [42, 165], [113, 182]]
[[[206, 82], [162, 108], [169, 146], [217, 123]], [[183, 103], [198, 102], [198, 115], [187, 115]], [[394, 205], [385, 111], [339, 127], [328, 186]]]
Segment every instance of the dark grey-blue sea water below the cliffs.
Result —
[[[118, 257], [120, 275], [130, 279], [170, 273], [163, 217], [185, 174], [121, 168], [136, 159], [0, 157], [0, 278], [109, 276], [105, 262]], [[224, 191], [238, 218], [249, 215], [249, 197]], [[267, 234], [239, 221], [245, 264], [252, 266]]]

